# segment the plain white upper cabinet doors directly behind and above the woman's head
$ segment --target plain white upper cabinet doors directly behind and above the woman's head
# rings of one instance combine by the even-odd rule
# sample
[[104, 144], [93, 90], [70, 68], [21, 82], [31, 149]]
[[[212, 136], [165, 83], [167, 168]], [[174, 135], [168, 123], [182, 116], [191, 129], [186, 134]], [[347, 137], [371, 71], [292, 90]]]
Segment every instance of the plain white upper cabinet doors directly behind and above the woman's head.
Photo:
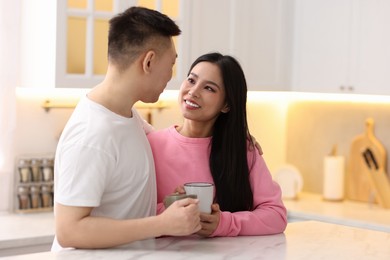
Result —
[[190, 60], [218, 51], [241, 63], [249, 90], [288, 90], [292, 2], [191, 2]]

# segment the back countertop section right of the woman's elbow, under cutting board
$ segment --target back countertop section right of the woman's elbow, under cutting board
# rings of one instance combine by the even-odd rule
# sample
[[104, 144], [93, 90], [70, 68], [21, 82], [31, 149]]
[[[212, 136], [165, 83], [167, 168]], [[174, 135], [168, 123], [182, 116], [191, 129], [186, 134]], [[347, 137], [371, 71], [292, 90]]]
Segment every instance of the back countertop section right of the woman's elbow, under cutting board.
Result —
[[320, 194], [313, 193], [300, 193], [298, 199], [284, 200], [284, 204], [289, 219], [317, 220], [390, 232], [390, 209], [377, 204], [327, 201]]

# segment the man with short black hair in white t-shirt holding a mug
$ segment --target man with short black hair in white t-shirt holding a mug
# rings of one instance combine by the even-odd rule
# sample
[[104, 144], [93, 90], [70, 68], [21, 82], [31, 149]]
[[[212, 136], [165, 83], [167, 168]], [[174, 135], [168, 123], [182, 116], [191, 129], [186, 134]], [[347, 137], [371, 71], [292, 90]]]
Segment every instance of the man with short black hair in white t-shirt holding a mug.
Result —
[[180, 29], [131, 7], [110, 20], [106, 77], [80, 100], [55, 158], [56, 238], [64, 247], [107, 248], [200, 229], [197, 200], [156, 214], [153, 157], [133, 105], [155, 102], [172, 77]]

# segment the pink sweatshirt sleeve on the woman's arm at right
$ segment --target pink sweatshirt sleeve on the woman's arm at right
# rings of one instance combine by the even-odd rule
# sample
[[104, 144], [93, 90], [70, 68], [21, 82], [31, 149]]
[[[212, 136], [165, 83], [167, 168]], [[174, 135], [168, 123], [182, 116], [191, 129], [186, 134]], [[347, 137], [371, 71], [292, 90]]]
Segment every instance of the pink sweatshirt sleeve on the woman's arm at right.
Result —
[[257, 151], [253, 152], [255, 155], [248, 152], [248, 158], [255, 156], [250, 168], [254, 209], [221, 212], [219, 225], [211, 237], [277, 234], [287, 226], [287, 210], [281, 199], [280, 186], [272, 180], [263, 157]]

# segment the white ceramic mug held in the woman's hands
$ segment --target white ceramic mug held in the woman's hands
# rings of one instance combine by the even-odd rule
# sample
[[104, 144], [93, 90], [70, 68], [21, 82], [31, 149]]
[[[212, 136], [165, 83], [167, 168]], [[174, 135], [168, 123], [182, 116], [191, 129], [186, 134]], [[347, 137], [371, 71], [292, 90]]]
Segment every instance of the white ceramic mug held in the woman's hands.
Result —
[[184, 184], [186, 194], [195, 194], [199, 199], [199, 211], [211, 213], [214, 197], [214, 184], [208, 182], [190, 182]]

